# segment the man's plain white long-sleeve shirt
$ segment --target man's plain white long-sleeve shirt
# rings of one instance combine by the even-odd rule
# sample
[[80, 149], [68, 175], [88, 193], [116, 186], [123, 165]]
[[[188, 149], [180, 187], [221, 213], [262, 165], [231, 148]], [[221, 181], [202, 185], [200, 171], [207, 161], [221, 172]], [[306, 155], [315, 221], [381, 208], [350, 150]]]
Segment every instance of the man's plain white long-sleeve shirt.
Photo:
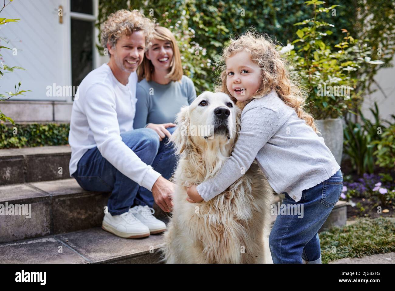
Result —
[[152, 190], [160, 173], [145, 164], [124, 142], [120, 134], [133, 130], [137, 74], [123, 85], [111, 68], [103, 64], [90, 72], [79, 85], [71, 110], [69, 144], [70, 175], [77, 170], [84, 153], [98, 147], [102, 156], [122, 174]]

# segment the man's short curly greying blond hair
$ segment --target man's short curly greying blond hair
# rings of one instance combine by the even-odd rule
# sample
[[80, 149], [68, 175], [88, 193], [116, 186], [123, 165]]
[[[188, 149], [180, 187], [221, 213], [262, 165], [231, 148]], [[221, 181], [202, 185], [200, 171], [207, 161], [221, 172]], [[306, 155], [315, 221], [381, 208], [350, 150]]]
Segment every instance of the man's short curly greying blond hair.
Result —
[[[100, 43], [103, 47], [115, 47], [122, 34], [130, 35], [136, 30], [143, 30], [145, 34], [145, 47], [149, 46], [154, 35], [155, 22], [141, 14], [137, 9], [129, 11], [118, 10], [107, 18], [100, 26]], [[111, 55], [109, 53], [109, 55]]]

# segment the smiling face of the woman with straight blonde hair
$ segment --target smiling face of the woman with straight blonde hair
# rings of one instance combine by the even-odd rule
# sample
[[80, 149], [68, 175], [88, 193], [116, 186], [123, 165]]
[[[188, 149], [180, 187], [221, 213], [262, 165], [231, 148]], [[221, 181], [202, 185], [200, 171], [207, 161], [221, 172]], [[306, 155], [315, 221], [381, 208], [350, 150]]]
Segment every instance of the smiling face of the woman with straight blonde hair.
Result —
[[168, 40], [152, 40], [152, 45], [145, 53], [145, 57], [151, 60], [155, 70], [169, 71], [171, 60], [173, 59], [173, 49]]

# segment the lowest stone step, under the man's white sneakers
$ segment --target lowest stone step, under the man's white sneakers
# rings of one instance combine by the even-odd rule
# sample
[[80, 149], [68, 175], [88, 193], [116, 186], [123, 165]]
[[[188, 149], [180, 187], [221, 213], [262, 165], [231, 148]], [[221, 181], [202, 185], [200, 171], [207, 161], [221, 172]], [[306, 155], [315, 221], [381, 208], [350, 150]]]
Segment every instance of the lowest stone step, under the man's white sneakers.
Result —
[[0, 263], [159, 263], [163, 234], [120, 238], [95, 227], [0, 244]]

